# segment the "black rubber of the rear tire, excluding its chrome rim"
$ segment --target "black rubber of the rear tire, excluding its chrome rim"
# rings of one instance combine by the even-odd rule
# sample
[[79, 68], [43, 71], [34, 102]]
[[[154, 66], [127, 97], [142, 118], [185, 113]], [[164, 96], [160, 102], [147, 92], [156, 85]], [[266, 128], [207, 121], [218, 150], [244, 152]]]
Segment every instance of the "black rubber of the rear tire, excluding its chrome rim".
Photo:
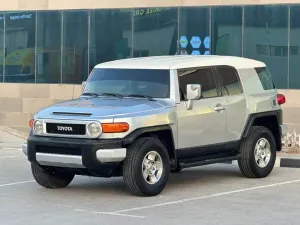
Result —
[[[268, 164], [261, 168], [255, 160], [255, 146], [261, 139], [265, 138], [271, 149], [271, 156]], [[250, 128], [249, 135], [240, 147], [241, 158], [238, 160], [238, 165], [244, 176], [249, 178], [264, 178], [267, 177], [273, 170], [276, 161], [276, 142], [272, 132], [261, 126], [253, 126]]]

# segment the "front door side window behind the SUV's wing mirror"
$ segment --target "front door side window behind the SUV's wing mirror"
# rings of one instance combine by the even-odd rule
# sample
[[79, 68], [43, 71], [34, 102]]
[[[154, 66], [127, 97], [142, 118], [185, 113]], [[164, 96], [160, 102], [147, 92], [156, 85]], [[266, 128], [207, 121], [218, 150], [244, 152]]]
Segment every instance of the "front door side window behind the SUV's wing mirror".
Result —
[[217, 86], [211, 68], [178, 71], [181, 100], [186, 100], [186, 86], [201, 84], [202, 97], [217, 97]]

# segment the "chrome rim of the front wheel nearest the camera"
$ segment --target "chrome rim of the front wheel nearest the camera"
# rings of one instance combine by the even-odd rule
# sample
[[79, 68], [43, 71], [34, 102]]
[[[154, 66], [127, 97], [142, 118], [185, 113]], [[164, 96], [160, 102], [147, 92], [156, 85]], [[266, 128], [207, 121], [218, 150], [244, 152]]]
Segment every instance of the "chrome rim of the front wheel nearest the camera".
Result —
[[163, 173], [161, 156], [156, 151], [148, 152], [143, 160], [142, 173], [148, 184], [156, 184]]

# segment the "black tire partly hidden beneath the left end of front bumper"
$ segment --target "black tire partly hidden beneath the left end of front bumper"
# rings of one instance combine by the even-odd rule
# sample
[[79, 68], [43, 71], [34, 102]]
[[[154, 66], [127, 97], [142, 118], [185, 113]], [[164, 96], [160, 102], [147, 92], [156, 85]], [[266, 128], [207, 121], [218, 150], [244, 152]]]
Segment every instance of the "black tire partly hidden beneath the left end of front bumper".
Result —
[[39, 185], [49, 189], [64, 188], [68, 186], [75, 177], [75, 174], [57, 168], [42, 168], [36, 162], [31, 163], [31, 172]]

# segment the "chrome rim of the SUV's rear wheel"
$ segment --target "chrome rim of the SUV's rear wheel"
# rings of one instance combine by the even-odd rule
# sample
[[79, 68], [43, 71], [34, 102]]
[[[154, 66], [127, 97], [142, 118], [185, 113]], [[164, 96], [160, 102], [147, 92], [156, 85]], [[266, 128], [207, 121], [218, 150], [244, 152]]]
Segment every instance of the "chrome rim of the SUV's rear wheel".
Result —
[[255, 145], [255, 162], [260, 168], [265, 168], [271, 159], [271, 145], [266, 138], [261, 138]]

